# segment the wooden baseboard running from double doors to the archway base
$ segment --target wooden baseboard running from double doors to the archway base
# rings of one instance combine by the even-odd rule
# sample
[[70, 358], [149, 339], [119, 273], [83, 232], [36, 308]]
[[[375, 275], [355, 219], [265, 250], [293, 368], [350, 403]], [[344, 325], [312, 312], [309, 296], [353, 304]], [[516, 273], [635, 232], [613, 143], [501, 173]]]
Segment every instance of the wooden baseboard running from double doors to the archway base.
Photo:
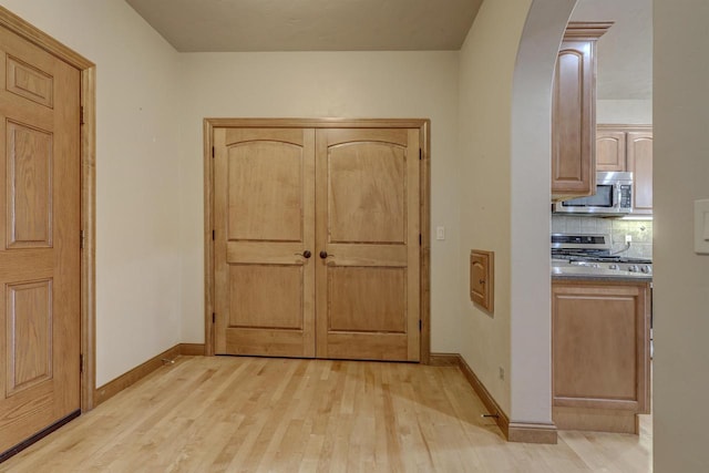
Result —
[[494, 417], [497, 426], [508, 442], [545, 443], [555, 444], [557, 442], [556, 425], [537, 424], [525, 422], [510, 422], [510, 418], [500, 408], [495, 398], [482, 383], [473, 369], [465, 362], [459, 353], [431, 353], [431, 364], [436, 367], [456, 366], [475, 391], [475, 394], [483, 401], [485, 409]]

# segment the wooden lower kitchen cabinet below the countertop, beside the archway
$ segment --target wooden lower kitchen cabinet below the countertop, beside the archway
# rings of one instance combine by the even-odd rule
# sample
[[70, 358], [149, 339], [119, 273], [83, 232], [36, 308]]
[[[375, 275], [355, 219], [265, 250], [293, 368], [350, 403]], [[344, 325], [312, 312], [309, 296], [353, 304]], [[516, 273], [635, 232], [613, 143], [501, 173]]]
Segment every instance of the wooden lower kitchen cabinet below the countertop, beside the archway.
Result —
[[638, 433], [650, 409], [649, 298], [645, 280], [552, 281], [558, 429]]

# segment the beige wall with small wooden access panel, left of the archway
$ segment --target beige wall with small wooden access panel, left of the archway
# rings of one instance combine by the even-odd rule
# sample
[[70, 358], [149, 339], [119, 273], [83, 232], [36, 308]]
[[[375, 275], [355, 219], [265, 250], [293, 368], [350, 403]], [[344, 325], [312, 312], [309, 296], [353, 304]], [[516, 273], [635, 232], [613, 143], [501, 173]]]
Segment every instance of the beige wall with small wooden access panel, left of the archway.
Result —
[[[472, 248], [495, 251], [495, 310], [462, 305], [461, 354], [510, 414], [511, 112], [517, 45], [530, 2], [484, 2], [461, 49], [459, 142], [461, 247], [459, 278], [467, 287]], [[501, 379], [500, 370], [505, 377]]]

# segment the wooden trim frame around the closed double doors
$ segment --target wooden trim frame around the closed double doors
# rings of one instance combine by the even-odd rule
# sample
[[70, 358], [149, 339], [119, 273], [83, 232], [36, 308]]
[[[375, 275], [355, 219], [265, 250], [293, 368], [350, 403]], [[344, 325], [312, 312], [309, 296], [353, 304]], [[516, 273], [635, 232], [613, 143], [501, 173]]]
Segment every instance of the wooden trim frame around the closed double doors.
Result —
[[204, 119], [204, 275], [205, 275], [205, 354], [214, 356], [214, 182], [212, 150], [216, 127], [269, 128], [419, 128], [421, 143], [420, 225], [421, 304], [420, 360], [429, 364], [431, 356], [431, 121], [428, 119]]

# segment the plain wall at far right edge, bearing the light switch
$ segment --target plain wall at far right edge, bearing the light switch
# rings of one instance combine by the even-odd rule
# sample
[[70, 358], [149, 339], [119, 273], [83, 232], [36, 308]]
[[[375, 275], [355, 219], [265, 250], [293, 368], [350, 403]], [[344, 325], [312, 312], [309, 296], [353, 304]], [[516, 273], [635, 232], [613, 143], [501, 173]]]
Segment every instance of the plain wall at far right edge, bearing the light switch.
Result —
[[709, 198], [709, 2], [655, 0], [655, 472], [709, 471], [709, 255], [693, 200]]

